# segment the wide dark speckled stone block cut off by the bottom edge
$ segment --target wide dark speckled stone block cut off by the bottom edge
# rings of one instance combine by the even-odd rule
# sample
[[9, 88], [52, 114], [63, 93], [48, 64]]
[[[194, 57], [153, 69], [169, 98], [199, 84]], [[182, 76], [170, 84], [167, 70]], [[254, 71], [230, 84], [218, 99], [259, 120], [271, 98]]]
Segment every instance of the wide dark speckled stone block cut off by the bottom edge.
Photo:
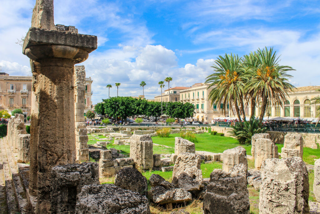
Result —
[[124, 190], [114, 184], [87, 185], [77, 195], [78, 214], [149, 214], [148, 199], [144, 195]]

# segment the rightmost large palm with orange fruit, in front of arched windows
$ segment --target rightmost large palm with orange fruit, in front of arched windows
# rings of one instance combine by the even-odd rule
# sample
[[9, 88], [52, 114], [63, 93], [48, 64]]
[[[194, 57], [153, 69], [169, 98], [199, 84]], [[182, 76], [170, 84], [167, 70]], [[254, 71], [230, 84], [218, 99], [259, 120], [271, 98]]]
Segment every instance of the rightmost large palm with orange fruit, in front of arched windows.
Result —
[[[295, 70], [290, 66], [279, 65], [279, 57], [276, 56], [276, 51], [270, 47], [268, 50], [258, 49], [255, 54], [257, 67], [248, 70], [248, 76], [251, 80], [246, 84], [248, 91], [252, 90], [252, 96], [257, 100], [262, 100], [260, 123], [266, 112], [267, 105], [280, 105], [283, 107], [283, 102], [286, 100], [285, 95], [292, 91], [295, 87], [289, 83], [287, 71]], [[289, 95], [288, 95], [289, 96]]]

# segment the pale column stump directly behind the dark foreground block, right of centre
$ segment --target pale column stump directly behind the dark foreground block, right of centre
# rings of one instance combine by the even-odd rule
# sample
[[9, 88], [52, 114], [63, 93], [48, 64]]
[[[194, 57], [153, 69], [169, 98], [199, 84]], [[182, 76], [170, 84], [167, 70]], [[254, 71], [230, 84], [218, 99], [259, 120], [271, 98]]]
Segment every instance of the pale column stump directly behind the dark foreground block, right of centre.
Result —
[[233, 149], [224, 150], [222, 153], [222, 170], [229, 172], [237, 164], [244, 164], [248, 168], [247, 151], [237, 146]]

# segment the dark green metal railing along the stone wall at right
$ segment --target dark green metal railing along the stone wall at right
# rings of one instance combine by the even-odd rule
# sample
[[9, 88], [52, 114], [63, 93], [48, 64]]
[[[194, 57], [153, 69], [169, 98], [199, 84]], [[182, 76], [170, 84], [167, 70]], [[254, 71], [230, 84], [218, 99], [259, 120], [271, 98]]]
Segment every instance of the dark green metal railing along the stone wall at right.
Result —
[[[238, 124], [238, 122], [216, 122], [212, 126], [230, 127]], [[285, 123], [269, 123], [265, 124], [270, 131], [277, 132], [299, 132], [299, 133], [320, 133], [320, 124], [285, 124]]]

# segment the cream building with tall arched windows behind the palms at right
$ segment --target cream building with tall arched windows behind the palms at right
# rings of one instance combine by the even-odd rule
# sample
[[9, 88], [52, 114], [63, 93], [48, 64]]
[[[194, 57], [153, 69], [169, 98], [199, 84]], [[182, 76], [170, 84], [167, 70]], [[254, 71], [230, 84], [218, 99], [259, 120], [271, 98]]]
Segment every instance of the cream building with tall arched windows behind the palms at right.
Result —
[[[293, 92], [288, 93], [284, 107], [268, 107], [265, 117], [316, 117], [319, 113], [317, 110], [318, 105], [311, 105], [311, 99], [320, 96], [320, 86], [303, 86], [297, 87]], [[260, 116], [260, 108], [262, 102], [258, 104], [255, 109], [255, 116]], [[244, 103], [244, 112], [246, 116], [251, 115], [250, 103]], [[234, 114], [236, 111], [234, 110]], [[230, 115], [234, 116], [230, 109]]]

